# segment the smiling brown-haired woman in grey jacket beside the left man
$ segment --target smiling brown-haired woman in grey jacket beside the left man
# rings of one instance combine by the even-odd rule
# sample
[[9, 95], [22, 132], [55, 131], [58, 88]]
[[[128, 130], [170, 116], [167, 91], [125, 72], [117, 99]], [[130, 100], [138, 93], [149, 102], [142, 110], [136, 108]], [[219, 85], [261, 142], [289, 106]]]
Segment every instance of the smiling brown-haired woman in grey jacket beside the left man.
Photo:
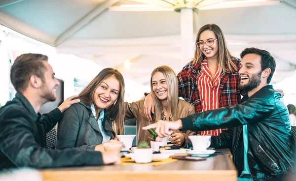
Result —
[[104, 143], [119, 142], [113, 139], [116, 134], [123, 134], [124, 128], [121, 73], [113, 68], [103, 69], [77, 99], [80, 102], [65, 111], [59, 122], [56, 148], [104, 151]]

